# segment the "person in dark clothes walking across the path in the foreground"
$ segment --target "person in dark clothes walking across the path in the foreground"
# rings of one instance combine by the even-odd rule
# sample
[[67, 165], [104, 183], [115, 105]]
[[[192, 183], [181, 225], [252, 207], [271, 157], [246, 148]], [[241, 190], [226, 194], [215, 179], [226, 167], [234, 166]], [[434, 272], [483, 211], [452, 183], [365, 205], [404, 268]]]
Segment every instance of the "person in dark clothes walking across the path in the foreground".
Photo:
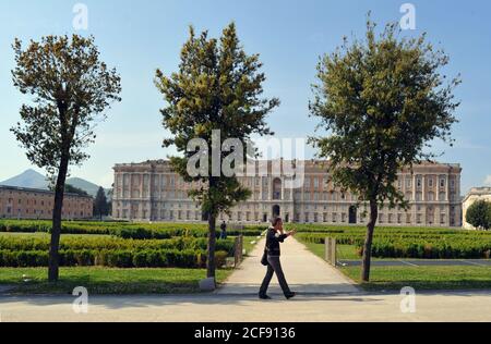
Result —
[[[292, 236], [295, 234], [296, 231], [285, 233], [283, 229], [283, 220], [280, 218], [275, 218], [272, 221], [272, 226], [267, 230], [266, 248], [263, 257], [263, 260], [267, 260], [267, 272], [259, 293], [259, 297], [261, 299], [271, 299], [271, 297], [267, 296], [266, 293], [270, 286], [271, 279], [275, 273], [276, 277], [278, 278], [278, 282], [279, 285], [282, 286], [285, 297], [287, 299], [290, 299], [296, 295], [296, 293], [291, 292], [288, 286], [288, 283], [285, 279], [285, 274], [283, 273], [282, 262], [279, 261], [280, 256], [279, 244], [283, 243], [287, 237]], [[266, 261], [263, 261], [263, 263], [266, 263]]]

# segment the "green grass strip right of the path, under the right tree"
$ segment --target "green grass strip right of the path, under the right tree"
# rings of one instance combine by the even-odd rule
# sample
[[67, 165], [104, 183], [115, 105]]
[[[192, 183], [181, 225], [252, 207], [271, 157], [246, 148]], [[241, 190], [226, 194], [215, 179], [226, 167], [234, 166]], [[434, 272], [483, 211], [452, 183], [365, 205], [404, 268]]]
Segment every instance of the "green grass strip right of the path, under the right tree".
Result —
[[[360, 267], [340, 271], [360, 283]], [[370, 280], [359, 285], [371, 291], [491, 288], [491, 267], [372, 267]]]

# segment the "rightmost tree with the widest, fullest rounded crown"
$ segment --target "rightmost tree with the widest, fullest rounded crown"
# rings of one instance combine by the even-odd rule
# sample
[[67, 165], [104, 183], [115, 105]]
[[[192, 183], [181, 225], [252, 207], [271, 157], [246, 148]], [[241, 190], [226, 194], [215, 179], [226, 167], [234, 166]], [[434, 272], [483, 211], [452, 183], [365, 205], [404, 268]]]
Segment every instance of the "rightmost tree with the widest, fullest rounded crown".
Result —
[[354, 39], [325, 54], [318, 65], [311, 115], [320, 118], [318, 135], [310, 142], [328, 159], [336, 185], [349, 189], [369, 206], [361, 280], [370, 280], [373, 232], [379, 206], [404, 209], [409, 204], [395, 182], [402, 168], [412, 168], [436, 156], [431, 140], [452, 145], [451, 126], [458, 102], [453, 90], [460, 83], [446, 81], [440, 70], [448, 63], [426, 35], [400, 38], [397, 24], [380, 36], [370, 16], [364, 40]]

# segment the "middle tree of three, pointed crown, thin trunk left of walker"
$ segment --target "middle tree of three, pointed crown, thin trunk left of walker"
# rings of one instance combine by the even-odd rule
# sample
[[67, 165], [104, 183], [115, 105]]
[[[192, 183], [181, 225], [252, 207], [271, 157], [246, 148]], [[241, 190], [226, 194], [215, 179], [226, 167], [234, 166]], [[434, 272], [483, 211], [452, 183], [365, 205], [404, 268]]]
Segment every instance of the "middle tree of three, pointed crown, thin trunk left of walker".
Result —
[[[171, 157], [173, 170], [184, 181], [203, 185], [189, 196], [201, 205], [207, 217], [207, 277], [215, 278], [216, 218], [238, 201], [248, 199], [250, 191], [241, 186], [237, 175], [212, 171], [212, 155], [207, 152], [202, 156], [204, 163], [200, 164], [204, 173], [188, 173], [188, 163], [199, 153], [197, 150], [188, 151], [188, 143], [201, 138], [207, 147], [221, 148], [228, 138], [247, 143], [252, 134], [271, 135], [265, 116], [279, 100], [261, 98], [265, 81], [265, 75], [260, 72], [262, 64], [258, 54], [244, 52], [233, 23], [223, 30], [219, 41], [209, 39], [207, 32], [196, 37], [191, 27], [180, 58], [179, 72], [170, 77], [160, 70], [156, 73], [156, 86], [168, 103], [161, 110], [163, 124], [172, 134], [172, 138], [164, 140], [164, 146], [175, 145], [182, 155]], [[218, 144], [213, 140], [214, 131], [220, 133]], [[225, 153], [218, 158], [221, 167]]]

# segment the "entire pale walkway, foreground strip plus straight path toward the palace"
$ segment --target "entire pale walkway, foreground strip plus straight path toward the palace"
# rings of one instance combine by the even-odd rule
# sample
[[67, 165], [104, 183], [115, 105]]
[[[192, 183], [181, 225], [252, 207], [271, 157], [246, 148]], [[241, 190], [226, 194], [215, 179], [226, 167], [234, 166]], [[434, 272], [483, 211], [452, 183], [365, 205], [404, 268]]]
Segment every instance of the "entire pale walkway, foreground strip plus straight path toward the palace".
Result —
[[416, 312], [403, 312], [399, 293], [358, 291], [336, 269], [289, 239], [283, 245], [287, 280], [299, 296], [285, 300], [275, 281], [273, 300], [258, 299], [265, 273], [260, 242], [223, 288], [204, 295], [89, 296], [88, 314], [75, 314], [71, 296], [0, 296], [0, 321], [48, 322], [315, 322], [491, 321], [491, 291], [416, 295]]

